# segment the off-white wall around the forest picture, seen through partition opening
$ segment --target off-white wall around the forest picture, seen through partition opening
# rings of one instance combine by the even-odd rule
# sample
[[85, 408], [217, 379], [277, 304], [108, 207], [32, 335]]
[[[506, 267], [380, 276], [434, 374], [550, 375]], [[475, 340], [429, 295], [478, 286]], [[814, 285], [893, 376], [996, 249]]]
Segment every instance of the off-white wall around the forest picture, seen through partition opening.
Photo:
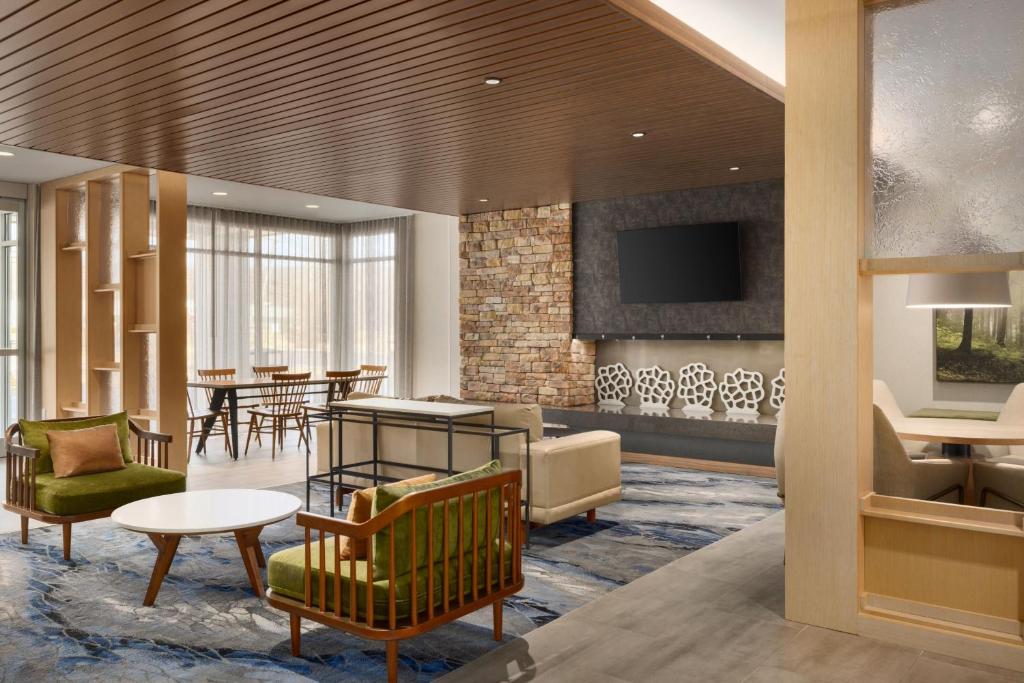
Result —
[[904, 413], [929, 405], [997, 411], [1012, 384], [935, 381], [932, 311], [907, 308], [907, 275], [874, 279], [874, 377], [885, 380]]

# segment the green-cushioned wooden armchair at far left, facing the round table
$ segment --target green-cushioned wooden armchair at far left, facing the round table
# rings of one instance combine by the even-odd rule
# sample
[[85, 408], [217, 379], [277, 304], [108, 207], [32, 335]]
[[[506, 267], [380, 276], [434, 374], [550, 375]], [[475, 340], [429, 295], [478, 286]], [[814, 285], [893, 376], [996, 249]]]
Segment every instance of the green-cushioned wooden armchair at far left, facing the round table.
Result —
[[[124, 469], [55, 477], [47, 431], [118, 427]], [[63, 557], [71, 559], [71, 525], [110, 517], [116, 509], [143, 498], [185, 489], [185, 475], [167, 468], [168, 434], [145, 431], [127, 414], [60, 420], [22, 420], [6, 431], [7, 490], [3, 508], [22, 517], [22, 543], [29, 543], [29, 519], [63, 528]], [[136, 438], [132, 454], [131, 437]]]

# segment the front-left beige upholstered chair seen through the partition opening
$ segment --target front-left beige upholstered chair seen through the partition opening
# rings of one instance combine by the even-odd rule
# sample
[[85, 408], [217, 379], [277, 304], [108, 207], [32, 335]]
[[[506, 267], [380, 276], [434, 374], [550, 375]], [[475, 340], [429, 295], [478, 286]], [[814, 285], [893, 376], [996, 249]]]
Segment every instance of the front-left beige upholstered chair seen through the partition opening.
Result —
[[874, 405], [873, 419], [876, 493], [926, 501], [938, 501], [956, 494], [956, 502], [964, 502], [964, 487], [970, 471], [966, 459], [912, 460], [879, 405]]

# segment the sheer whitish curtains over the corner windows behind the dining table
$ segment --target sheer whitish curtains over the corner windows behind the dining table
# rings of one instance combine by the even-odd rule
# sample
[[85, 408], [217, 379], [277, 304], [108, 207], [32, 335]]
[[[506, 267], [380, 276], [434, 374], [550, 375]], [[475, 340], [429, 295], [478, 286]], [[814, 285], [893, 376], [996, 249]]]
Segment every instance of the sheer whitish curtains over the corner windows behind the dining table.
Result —
[[406, 217], [346, 224], [189, 207], [189, 372], [386, 365], [382, 391], [406, 395], [409, 232]]

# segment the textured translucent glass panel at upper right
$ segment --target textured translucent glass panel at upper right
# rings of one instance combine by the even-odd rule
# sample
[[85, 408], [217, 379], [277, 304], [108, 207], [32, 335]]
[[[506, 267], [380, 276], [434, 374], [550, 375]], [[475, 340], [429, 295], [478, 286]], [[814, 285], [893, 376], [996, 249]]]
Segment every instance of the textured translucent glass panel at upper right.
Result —
[[867, 256], [1024, 251], [1024, 1], [869, 8]]

